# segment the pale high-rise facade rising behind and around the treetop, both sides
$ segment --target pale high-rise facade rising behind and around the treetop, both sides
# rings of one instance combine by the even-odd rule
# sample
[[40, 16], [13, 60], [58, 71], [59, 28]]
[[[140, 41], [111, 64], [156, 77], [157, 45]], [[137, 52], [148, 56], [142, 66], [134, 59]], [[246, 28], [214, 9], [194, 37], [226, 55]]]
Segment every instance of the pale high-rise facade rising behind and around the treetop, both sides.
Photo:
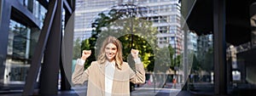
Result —
[[160, 48], [172, 45], [177, 54], [183, 50], [183, 32], [181, 31], [180, 3], [177, 0], [78, 0], [75, 17], [74, 39], [84, 40], [91, 36], [91, 23], [97, 14], [118, 5], [119, 3], [133, 2], [139, 6], [147, 7], [143, 17], [153, 22], [160, 32], [158, 45]]

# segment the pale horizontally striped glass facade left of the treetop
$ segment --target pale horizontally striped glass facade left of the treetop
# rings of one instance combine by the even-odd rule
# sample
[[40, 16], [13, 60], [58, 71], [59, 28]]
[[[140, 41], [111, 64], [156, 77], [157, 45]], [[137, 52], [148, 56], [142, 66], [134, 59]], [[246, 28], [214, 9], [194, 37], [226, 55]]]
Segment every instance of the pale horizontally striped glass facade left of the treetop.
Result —
[[84, 40], [91, 36], [91, 23], [96, 19], [97, 14], [117, 5], [116, 0], [77, 0], [75, 11], [74, 40]]

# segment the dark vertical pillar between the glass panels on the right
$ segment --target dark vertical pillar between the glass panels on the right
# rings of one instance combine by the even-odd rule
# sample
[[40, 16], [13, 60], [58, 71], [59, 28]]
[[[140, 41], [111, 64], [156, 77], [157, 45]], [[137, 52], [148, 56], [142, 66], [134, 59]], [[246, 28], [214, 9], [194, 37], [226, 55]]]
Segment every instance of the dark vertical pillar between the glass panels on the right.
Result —
[[216, 95], [227, 94], [225, 0], [213, 0], [214, 90]]

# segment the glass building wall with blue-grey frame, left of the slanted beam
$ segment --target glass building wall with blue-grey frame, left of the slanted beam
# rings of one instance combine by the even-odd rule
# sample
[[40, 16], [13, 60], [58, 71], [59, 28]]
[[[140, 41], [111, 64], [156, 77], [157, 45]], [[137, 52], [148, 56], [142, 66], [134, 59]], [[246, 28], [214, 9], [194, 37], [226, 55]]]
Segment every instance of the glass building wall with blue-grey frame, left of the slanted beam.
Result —
[[0, 3], [0, 86], [24, 84], [47, 10], [37, 0]]

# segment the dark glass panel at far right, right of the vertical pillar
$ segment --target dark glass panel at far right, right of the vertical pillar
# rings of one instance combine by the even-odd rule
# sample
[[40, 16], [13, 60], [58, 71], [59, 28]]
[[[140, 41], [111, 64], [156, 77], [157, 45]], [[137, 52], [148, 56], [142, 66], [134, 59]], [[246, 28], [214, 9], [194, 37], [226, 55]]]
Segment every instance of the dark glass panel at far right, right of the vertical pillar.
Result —
[[[228, 34], [226, 63], [228, 93], [244, 95], [255, 93], [256, 90], [256, 4], [250, 5], [250, 30], [240, 25], [232, 28], [232, 34]], [[245, 31], [242, 32], [241, 31]], [[230, 32], [230, 31], [227, 31]], [[249, 38], [249, 39], [244, 39]], [[233, 42], [236, 41], [236, 42]], [[246, 42], [245, 42], [246, 41]]]

